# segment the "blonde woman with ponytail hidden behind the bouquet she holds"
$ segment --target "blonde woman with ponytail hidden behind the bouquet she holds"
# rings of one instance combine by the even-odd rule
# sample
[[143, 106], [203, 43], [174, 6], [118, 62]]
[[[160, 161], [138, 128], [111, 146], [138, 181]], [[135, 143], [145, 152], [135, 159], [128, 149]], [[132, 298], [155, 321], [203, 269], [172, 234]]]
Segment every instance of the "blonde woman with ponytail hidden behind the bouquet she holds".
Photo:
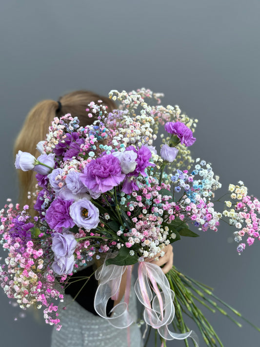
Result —
[[[44, 100], [36, 104], [29, 112], [22, 129], [15, 142], [14, 152], [29, 152], [35, 157], [41, 153], [39, 140], [44, 142], [49, 126], [55, 117], [60, 118], [65, 114], [71, 114], [78, 117], [79, 125], [86, 126], [91, 124], [93, 118], [87, 117], [86, 108], [90, 102], [102, 100], [107, 108], [107, 112], [112, 112], [117, 105], [109, 98], [97, 95], [90, 91], [80, 90], [65, 94], [58, 102]], [[44, 180], [44, 176], [33, 171], [18, 170], [20, 182], [20, 205], [28, 205], [31, 215], [35, 214], [33, 192], [36, 190], [36, 184], [39, 180]], [[28, 193], [29, 192], [29, 193]], [[29, 199], [28, 199], [29, 194]], [[37, 206], [36, 206], [37, 207]], [[162, 266], [162, 271], [167, 273], [173, 265], [173, 250], [171, 245], [164, 247], [164, 255], [157, 254], [154, 258], [159, 259], [155, 262], [151, 258], [151, 263]], [[98, 257], [97, 257], [98, 258]], [[98, 266], [102, 265], [102, 260], [95, 259], [88, 262], [87, 265], [80, 266], [77, 272], [74, 272], [67, 281], [64, 292], [64, 302], [60, 303], [60, 331], [53, 330], [52, 347], [63, 347], [71, 345], [74, 347], [91, 346], [142, 346], [140, 333], [140, 323], [138, 322], [138, 312], [136, 297], [133, 295], [133, 280], [131, 294], [128, 304], [128, 310], [135, 322], [129, 328], [118, 329], [108, 324], [101, 318], [94, 308], [94, 297], [98, 288], [98, 281], [92, 275]], [[113, 306], [122, 301], [125, 294], [127, 282], [126, 272], [121, 278], [119, 295], [115, 300], [109, 299], [106, 313], [109, 316]]]

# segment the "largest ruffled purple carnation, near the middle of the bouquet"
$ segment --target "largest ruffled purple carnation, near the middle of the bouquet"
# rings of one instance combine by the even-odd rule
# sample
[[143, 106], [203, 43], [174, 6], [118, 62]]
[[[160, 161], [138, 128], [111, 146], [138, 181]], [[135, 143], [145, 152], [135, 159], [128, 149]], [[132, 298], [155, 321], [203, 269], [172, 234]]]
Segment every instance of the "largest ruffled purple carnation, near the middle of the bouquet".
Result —
[[120, 161], [112, 154], [93, 159], [80, 175], [81, 182], [94, 193], [105, 193], [119, 185], [124, 178]]

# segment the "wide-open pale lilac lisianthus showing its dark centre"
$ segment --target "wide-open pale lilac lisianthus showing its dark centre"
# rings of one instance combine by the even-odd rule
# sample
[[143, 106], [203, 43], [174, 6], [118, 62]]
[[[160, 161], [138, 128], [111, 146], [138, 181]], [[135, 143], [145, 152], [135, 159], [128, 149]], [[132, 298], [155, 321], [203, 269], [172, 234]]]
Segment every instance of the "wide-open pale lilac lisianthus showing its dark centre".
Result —
[[76, 225], [87, 230], [96, 228], [100, 222], [99, 209], [85, 198], [70, 206], [70, 216]]

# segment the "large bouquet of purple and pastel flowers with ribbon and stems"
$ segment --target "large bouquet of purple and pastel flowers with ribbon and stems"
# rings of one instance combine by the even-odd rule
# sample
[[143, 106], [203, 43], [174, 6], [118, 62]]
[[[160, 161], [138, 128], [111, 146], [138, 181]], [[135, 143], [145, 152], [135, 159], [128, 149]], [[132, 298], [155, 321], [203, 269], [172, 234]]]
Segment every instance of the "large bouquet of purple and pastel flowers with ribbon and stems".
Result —
[[[37, 159], [26, 152], [17, 154], [16, 168], [37, 172], [37, 190], [31, 197], [36, 201], [33, 211], [9, 201], [0, 212], [0, 243], [8, 251], [0, 285], [22, 308], [44, 306], [46, 323], [60, 329], [56, 300], [62, 301], [69, 277], [102, 257], [95, 273], [95, 309], [114, 327], [129, 327], [129, 278], [131, 265], [138, 263], [135, 292], [145, 323], [156, 329], [162, 344], [183, 339], [188, 346], [191, 337], [198, 346], [197, 335], [182, 317], [186, 313], [208, 346], [222, 346], [196, 300], [227, 316], [218, 301], [235, 315], [240, 313], [175, 266], [165, 276], [149, 260], [159, 259], [164, 247], [181, 237], [199, 236], [191, 225], [217, 231], [223, 217], [236, 227], [241, 253], [243, 237], [248, 245], [260, 239], [260, 202], [248, 196], [240, 182], [229, 186], [227, 209], [216, 211], [219, 177], [210, 163], [194, 163], [188, 149], [196, 140], [197, 120], [181, 114], [178, 106], [163, 107], [163, 95], [149, 89], [112, 90], [109, 96], [120, 102], [118, 109], [108, 113], [101, 100], [91, 102], [86, 117], [95, 121], [85, 127], [69, 114], [55, 118], [46, 141], [38, 143]], [[166, 136], [161, 135], [159, 154], [152, 144], [161, 125]], [[107, 316], [107, 301], [118, 297], [125, 271], [125, 303], [113, 308], [117, 314]]]

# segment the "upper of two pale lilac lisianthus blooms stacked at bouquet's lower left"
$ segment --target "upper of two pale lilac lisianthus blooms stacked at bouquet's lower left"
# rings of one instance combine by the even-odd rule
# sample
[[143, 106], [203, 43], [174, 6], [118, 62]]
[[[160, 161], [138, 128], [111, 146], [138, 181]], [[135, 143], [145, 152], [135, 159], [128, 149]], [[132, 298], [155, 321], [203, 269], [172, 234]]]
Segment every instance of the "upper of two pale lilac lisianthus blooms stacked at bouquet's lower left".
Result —
[[56, 258], [71, 257], [75, 251], [77, 241], [71, 232], [55, 232], [52, 234], [52, 250]]

